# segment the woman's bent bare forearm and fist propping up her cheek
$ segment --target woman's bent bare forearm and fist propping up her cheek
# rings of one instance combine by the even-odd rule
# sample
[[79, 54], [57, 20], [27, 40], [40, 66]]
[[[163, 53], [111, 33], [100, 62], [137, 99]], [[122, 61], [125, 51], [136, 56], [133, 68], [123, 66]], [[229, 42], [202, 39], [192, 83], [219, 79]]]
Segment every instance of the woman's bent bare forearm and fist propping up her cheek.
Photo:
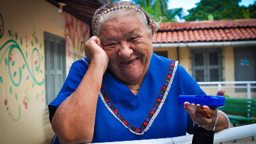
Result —
[[[52, 129], [60, 143], [91, 143], [93, 139], [97, 101], [109, 58], [97, 36], [86, 42], [84, 53], [91, 60], [90, 67], [85, 74], [70, 76], [68, 81], [79, 83], [79, 86], [60, 104], [52, 117]], [[81, 76], [84, 76], [83, 79]]]

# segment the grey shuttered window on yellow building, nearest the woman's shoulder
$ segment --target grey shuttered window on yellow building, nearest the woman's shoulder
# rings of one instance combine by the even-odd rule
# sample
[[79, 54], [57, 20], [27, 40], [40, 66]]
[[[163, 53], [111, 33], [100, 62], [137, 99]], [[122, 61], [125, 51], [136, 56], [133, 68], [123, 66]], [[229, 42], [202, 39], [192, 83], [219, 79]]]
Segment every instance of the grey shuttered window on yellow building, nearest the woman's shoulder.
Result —
[[197, 82], [222, 81], [221, 49], [191, 49], [191, 69]]

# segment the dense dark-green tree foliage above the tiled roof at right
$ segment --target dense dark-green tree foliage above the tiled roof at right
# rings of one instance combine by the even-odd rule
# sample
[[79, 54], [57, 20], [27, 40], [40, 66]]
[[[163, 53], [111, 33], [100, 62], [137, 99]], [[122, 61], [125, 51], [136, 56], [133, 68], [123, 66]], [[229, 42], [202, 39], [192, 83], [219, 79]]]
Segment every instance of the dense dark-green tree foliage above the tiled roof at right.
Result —
[[[244, 19], [244, 9], [239, 6], [241, 0], [201, 0], [195, 8], [188, 10], [187, 21], [207, 20], [208, 15], [213, 15], [214, 20]], [[255, 9], [254, 9], [255, 10]], [[255, 12], [255, 11], [254, 11]]]

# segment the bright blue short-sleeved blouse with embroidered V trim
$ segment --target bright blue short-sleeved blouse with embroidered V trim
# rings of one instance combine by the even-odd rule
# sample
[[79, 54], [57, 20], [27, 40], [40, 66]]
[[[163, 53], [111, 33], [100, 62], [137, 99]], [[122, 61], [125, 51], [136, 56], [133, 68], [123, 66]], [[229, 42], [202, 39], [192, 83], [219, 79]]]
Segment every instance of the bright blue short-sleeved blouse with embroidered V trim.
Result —
[[[88, 58], [73, 63], [60, 93], [49, 106], [58, 108], [76, 90], [89, 65]], [[106, 70], [92, 143], [172, 138], [193, 133], [193, 121], [183, 106], [178, 105], [179, 95], [205, 93], [177, 61], [154, 53], [137, 95]]]

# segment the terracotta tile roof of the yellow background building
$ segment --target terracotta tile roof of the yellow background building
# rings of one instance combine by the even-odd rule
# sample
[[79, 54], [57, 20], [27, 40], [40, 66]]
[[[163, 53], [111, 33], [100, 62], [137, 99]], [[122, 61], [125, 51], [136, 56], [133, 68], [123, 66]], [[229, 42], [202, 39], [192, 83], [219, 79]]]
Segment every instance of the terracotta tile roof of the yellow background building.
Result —
[[153, 43], [256, 40], [256, 19], [162, 22]]

